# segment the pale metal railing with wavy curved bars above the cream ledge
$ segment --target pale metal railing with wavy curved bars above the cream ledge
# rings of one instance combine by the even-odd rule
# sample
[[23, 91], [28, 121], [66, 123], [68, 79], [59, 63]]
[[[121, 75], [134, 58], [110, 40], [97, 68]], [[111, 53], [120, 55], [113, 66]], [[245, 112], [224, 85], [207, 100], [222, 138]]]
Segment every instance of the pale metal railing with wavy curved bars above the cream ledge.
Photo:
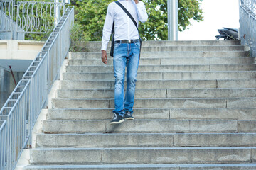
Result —
[[50, 33], [64, 11], [63, 2], [0, 1], [0, 38], [23, 40], [25, 33]]

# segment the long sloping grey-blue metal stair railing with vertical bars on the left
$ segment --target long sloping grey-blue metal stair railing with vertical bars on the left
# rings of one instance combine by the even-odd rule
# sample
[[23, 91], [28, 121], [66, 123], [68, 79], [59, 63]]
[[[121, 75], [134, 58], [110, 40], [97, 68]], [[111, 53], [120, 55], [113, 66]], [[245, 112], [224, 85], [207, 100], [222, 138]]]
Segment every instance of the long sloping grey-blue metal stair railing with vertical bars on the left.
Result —
[[[70, 28], [74, 22], [74, 8], [69, 6], [48, 40], [28, 67], [23, 79], [0, 111], [0, 168], [12, 170], [24, 148], [31, 146], [31, 131], [39, 113], [46, 105], [48, 92], [59, 77], [60, 67], [68, 54]], [[6, 132], [4, 131], [6, 130]]]

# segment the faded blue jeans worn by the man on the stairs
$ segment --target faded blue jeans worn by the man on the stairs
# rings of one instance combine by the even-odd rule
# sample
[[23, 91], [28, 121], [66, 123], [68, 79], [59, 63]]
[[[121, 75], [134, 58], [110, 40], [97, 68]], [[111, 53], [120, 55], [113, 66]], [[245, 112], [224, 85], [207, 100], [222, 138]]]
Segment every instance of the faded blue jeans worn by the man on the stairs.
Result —
[[[139, 67], [140, 43], [114, 44], [114, 111], [124, 115], [125, 111], [133, 113], [137, 70]], [[127, 67], [127, 91], [124, 98], [124, 74]]]

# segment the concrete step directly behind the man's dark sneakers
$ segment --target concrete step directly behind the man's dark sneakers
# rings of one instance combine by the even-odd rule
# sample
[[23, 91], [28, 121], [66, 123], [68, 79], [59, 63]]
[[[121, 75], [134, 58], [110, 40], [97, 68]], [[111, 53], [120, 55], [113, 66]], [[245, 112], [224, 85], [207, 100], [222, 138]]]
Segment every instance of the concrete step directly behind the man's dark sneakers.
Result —
[[[48, 120], [110, 120], [114, 108], [49, 109]], [[256, 108], [134, 108], [135, 119], [256, 120]]]

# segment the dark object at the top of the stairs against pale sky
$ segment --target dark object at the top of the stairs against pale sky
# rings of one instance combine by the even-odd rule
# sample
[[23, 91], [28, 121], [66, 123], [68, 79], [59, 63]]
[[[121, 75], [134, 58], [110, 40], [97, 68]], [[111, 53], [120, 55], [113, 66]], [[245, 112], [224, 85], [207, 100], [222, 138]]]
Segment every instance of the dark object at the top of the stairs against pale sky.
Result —
[[220, 35], [215, 36], [217, 40], [220, 38], [224, 40], [238, 40], [238, 29], [223, 27], [223, 29], [218, 29], [218, 32]]

